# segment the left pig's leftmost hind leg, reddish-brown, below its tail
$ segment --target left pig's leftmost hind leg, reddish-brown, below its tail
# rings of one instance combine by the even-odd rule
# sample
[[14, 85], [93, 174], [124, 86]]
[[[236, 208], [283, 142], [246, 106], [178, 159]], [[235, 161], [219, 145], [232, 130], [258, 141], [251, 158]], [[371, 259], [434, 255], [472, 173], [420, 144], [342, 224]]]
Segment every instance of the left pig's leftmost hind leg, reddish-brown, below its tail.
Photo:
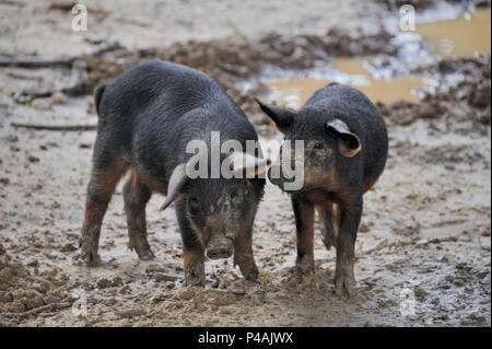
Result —
[[122, 159], [109, 158], [97, 150], [96, 144], [80, 240], [81, 257], [90, 266], [95, 266], [101, 261], [97, 254], [101, 225], [116, 185], [128, 168], [128, 163]]

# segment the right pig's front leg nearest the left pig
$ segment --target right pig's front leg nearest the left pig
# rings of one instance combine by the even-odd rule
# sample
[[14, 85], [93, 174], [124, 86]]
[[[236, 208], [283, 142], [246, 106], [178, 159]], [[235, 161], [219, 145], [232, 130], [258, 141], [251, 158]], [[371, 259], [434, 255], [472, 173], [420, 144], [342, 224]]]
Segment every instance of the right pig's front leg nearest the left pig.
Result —
[[296, 270], [303, 283], [309, 283], [314, 272], [314, 217], [315, 208], [297, 197], [292, 197], [297, 231]]

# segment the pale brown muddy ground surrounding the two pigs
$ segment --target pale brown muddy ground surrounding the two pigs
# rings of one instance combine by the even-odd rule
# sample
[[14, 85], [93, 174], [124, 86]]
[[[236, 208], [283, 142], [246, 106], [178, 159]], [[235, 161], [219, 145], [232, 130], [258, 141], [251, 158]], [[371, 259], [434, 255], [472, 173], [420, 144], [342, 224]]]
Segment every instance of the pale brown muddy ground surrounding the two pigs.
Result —
[[[418, 10], [429, 5], [413, 2]], [[384, 175], [364, 197], [354, 298], [332, 293], [335, 252], [326, 251], [319, 229], [313, 282], [292, 278], [293, 213], [288, 196], [271, 185], [255, 222], [258, 282], [243, 280], [231, 259], [209, 260], [208, 286], [187, 288], [174, 211], [161, 213], [164, 198], [151, 199], [156, 259], [140, 261], [127, 248], [121, 185], [103, 224], [103, 265], [82, 265], [78, 240], [95, 131], [11, 123], [95, 125], [87, 93], [142, 59], [162, 58], [214, 77], [265, 139], [279, 137], [251, 102], [265, 93], [255, 80], [262, 67], [390, 57], [399, 47], [382, 22], [395, 15], [396, 2], [155, 1], [141, 8], [87, 1], [85, 33], [70, 31], [67, 3], [0, 1], [0, 61], [10, 61], [0, 68], [0, 325], [491, 325], [490, 54], [431, 61], [418, 69], [440, 81], [433, 94], [419, 103], [378, 103], [390, 151]], [[12, 63], [105, 47], [57, 67]], [[456, 73], [464, 79], [450, 83]], [[241, 88], [246, 81], [249, 90]], [[414, 313], [401, 313], [405, 304]]]

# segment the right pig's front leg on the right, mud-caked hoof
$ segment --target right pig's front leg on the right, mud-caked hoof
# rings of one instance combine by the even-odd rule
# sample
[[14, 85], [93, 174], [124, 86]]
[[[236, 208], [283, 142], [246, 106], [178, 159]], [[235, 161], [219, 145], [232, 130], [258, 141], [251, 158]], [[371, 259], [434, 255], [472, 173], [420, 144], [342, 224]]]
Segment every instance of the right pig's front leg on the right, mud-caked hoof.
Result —
[[362, 197], [358, 198], [355, 202], [340, 205], [340, 230], [337, 236], [337, 267], [335, 270], [335, 293], [338, 295], [354, 294], [354, 245], [361, 222], [362, 205]]

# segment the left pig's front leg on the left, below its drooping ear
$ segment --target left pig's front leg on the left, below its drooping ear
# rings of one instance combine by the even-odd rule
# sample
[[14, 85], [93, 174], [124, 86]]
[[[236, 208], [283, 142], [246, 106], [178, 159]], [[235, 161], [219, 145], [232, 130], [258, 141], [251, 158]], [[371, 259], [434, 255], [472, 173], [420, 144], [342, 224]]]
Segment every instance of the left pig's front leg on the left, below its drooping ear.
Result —
[[201, 236], [198, 236], [191, 228], [185, 211], [185, 201], [179, 200], [175, 205], [184, 247], [185, 282], [188, 286], [203, 287], [206, 283], [204, 248]]

